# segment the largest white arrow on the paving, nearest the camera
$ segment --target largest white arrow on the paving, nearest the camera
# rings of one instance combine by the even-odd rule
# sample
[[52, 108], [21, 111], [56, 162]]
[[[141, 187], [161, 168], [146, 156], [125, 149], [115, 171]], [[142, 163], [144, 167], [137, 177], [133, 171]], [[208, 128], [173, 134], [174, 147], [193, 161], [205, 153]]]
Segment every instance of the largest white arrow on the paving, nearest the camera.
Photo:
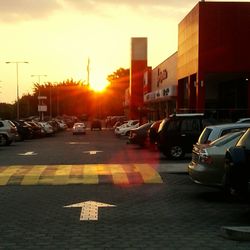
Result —
[[66, 208], [81, 207], [82, 210], [80, 214], [80, 220], [98, 220], [99, 207], [116, 207], [116, 206], [96, 201], [84, 201], [76, 204], [67, 205], [64, 207]]

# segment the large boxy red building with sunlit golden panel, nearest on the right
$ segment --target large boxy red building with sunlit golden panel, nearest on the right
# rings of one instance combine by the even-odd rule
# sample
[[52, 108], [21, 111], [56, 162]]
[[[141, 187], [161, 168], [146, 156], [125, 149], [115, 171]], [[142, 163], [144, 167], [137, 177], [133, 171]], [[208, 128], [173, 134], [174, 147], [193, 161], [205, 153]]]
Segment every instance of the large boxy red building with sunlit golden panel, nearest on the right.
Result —
[[199, 2], [179, 23], [177, 111], [250, 115], [249, 44], [250, 3]]

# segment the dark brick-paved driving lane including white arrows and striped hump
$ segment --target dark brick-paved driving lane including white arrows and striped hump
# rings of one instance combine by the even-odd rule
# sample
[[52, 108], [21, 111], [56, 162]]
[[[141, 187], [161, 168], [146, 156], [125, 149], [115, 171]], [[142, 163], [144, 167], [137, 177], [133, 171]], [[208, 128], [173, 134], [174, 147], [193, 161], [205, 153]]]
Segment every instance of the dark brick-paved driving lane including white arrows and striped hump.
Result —
[[249, 202], [175, 163], [108, 130], [0, 147], [0, 249], [250, 249], [221, 233], [250, 224]]

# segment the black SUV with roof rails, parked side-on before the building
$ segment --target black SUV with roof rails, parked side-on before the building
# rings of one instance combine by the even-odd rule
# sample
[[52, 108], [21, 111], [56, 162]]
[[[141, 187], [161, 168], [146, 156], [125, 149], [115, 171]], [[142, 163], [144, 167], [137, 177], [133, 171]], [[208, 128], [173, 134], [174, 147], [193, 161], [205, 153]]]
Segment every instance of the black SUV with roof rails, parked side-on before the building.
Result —
[[192, 152], [203, 128], [212, 123], [201, 113], [171, 115], [160, 124], [157, 147], [168, 158], [183, 158]]

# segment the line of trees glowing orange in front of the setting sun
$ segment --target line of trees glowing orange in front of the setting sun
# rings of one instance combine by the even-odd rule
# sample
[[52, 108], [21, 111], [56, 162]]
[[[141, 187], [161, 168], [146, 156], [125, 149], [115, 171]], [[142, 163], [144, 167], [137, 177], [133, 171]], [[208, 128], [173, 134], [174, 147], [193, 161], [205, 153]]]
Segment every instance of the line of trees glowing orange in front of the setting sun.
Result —
[[[107, 76], [109, 85], [103, 92], [94, 92], [81, 81], [67, 79], [59, 83], [35, 83], [32, 94], [19, 99], [20, 117], [23, 119], [38, 116], [38, 96], [47, 106], [46, 116], [87, 116], [105, 118], [108, 115], [124, 114], [124, 93], [129, 87], [129, 69], [119, 68]], [[41, 101], [40, 101], [41, 102]], [[40, 103], [41, 104], [41, 103]], [[15, 119], [17, 102], [0, 103], [0, 118]]]

